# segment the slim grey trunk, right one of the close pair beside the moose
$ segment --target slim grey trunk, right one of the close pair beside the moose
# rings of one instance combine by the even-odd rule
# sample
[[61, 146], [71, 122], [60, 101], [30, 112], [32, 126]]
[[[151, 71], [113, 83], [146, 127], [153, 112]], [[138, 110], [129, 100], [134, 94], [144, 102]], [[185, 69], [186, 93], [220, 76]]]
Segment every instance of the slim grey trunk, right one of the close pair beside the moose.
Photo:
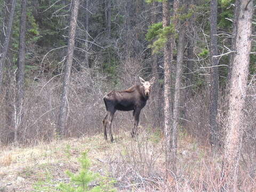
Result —
[[185, 27], [180, 27], [179, 45], [177, 50], [175, 92], [173, 100], [173, 122], [172, 122], [172, 151], [171, 151], [171, 167], [172, 173], [177, 174], [177, 138], [179, 125], [179, 104], [180, 104], [180, 82], [183, 64], [183, 53], [185, 44]]

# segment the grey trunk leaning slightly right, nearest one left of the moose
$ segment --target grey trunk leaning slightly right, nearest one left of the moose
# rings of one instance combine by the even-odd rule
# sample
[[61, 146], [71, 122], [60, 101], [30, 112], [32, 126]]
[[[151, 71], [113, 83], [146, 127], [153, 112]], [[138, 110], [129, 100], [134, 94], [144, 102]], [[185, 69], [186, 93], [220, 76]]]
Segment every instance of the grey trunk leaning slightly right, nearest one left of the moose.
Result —
[[75, 34], [76, 34], [76, 20], [78, 14], [79, 0], [73, 0], [71, 20], [69, 26], [69, 39], [68, 39], [68, 51], [67, 60], [65, 63], [65, 73], [63, 80], [63, 88], [60, 102], [60, 114], [57, 126], [57, 131], [60, 136], [63, 137], [66, 134], [66, 122], [68, 118], [68, 90], [71, 75], [71, 67], [73, 62], [74, 45], [75, 45]]

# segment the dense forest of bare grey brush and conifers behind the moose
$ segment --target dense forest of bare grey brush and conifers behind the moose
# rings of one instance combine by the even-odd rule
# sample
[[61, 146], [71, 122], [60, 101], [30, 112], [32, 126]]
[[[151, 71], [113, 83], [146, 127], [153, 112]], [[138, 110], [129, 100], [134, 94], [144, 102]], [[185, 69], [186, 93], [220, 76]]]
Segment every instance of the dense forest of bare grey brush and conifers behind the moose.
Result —
[[[244, 6], [241, 10], [251, 10], [252, 17], [247, 17], [251, 28], [244, 28], [252, 33], [249, 35], [252, 46], [247, 50], [250, 62], [238, 66], [241, 71], [247, 70], [246, 85], [237, 86], [243, 96], [238, 102], [242, 103], [238, 134], [233, 138], [238, 148], [230, 149], [236, 151], [230, 155], [233, 158], [224, 155], [223, 159], [234, 165], [232, 161], [242, 154], [246, 166], [253, 167], [250, 175], [255, 179], [252, 176], [256, 171], [254, 1], [246, 0], [245, 4], [234, 0], [77, 2], [0, 0], [3, 145], [34, 145], [60, 137], [101, 133], [106, 112], [103, 96], [110, 90], [139, 84], [139, 76], [148, 80], [154, 76], [150, 99], [141, 113], [141, 129], [160, 132], [169, 151], [177, 147], [175, 134], [182, 133], [206, 146], [225, 146], [227, 154], [231, 142], [227, 135], [233, 130], [229, 126], [233, 124], [229, 111], [234, 95], [230, 90], [232, 70], [238, 66], [234, 61], [237, 53], [234, 42], [239, 36], [239, 9]], [[26, 18], [25, 25], [22, 18]], [[72, 31], [75, 31], [74, 50], [69, 54]], [[166, 58], [169, 53], [170, 58]], [[246, 64], [246, 59], [241, 56], [240, 62]], [[65, 95], [67, 66], [71, 74]], [[63, 97], [67, 99], [63, 101]], [[66, 111], [61, 122], [62, 104]], [[166, 108], [167, 104], [170, 106]], [[171, 116], [171, 128], [166, 126], [169, 121], [166, 114]], [[130, 130], [133, 124], [130, 113], [117, 113], [115, 119], [115, 134]], [[166, 166], [176, 166], [176, 161], [170, 162], [175, 153], [167, 155]], [[228, 175], [228, 171], [225, 173]], [[166, 174], [172, 175], [168, 171]]]

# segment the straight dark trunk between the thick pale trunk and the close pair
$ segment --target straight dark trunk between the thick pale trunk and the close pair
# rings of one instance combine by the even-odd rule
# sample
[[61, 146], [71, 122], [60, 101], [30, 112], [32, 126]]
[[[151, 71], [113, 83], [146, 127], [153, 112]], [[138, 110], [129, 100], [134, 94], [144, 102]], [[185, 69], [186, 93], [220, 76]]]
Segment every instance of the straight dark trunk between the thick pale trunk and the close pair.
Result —
[[218, 73], [218, 58], [214, 58], [214, 55], [218, 55], [217, 48], [217, 10], [218, 0], [211, 0], [211, 80], [210, 80], [210, 133], [211, 145], [217, 145], [218, 143], [218, 98], [219, 98], [219, 73]]

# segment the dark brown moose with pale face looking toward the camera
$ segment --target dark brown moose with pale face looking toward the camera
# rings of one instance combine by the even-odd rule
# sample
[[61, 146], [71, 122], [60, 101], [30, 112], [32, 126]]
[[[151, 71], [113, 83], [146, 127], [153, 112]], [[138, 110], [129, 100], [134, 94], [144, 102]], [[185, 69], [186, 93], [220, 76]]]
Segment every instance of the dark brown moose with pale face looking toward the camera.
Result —
[[145, 107], [150, 94], [150, 87], [154, 82], [155, 77], [150, 81], [145, 81], [140, 78], [142, 85], [133, 85], [127, 90], [123, 91], [110, 91], [104, 98], [104, 103], [107, 109], [107, 115], [103, 119], [103, 132], [104, 138], [107, 140], [107, 126], [109, 130], [109, 137], [111, 142], [114, 141], [111, 125], [116, 110], [131, 111], [133, 110], [134, 126], [131, 135], [137, 134], [137, 127], [139, 124], [140, 111]]

